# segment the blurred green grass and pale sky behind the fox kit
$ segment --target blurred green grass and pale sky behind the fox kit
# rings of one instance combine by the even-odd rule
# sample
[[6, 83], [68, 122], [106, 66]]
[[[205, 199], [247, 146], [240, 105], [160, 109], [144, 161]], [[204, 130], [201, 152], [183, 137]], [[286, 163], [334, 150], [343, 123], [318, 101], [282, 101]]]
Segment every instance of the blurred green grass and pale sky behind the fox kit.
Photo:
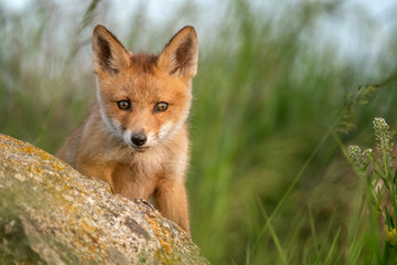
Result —
[[[97, 23], [132, 52], [196, 28], [192, 236], [213, 264], [372, 264], [344, 146], [397, 123], [393, 1], [0, 1], [0, 132], [54, 153], [96, 100]], [[372, 93], [367, 93], [372, 91]]]

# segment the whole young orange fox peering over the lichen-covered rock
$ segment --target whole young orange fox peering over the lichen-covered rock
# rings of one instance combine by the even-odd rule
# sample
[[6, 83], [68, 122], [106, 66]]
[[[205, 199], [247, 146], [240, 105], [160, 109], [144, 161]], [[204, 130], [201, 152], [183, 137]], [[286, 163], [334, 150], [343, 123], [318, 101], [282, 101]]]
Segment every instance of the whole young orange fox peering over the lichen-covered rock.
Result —
[[93, 34], [97, 104], [57, 157], [128, 199], [153, 197], [190, 233], [186, 119], [198, 43], [185, 26], [159, 55], [127, 51], [105, 26]]

